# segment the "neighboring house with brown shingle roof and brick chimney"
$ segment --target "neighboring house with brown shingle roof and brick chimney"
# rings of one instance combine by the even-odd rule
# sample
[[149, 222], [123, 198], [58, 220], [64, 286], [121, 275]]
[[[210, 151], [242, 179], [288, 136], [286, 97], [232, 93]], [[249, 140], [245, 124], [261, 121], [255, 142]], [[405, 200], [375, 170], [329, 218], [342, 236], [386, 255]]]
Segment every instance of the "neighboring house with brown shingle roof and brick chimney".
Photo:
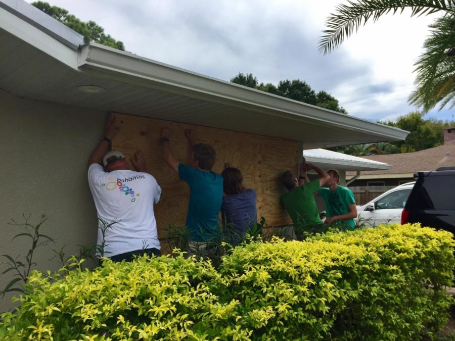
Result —
[[423, 151], [361, 157], [365, 160], [387, 163], [391, 169], [347, 172], [349, 186], [398, 186], [414, 181], [418, 171], [436, 170], [455, 166], [455, 128], [444, 129], [444, 144]]

